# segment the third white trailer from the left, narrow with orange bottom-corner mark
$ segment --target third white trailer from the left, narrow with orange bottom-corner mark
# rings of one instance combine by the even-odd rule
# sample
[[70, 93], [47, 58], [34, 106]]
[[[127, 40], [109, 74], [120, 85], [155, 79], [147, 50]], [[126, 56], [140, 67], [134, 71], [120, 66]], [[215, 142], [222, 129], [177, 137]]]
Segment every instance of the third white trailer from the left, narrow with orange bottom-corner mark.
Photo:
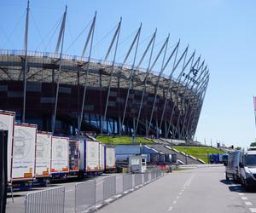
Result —
[[50, 176], [50, 154], [52, 135], [38, 132], [36, 147], [36, 177]]

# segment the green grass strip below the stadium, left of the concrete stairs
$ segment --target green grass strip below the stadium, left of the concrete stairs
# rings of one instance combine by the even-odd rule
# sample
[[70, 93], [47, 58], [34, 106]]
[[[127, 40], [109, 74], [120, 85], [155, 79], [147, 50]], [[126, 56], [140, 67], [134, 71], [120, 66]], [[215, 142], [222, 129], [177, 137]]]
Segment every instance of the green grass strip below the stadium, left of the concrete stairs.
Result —
[[106, 136], [106, 135], [99, 135], [96, 136], [96, 139], [101, 141], [102, 143], [105, 144], [133, 144], [133, 143], [143, 143], [143, 144], [147, 144], [147, 143], [153, 143], [153, 141], [150, 141], [148, 139], [145, 139], [143, 137], [134, 137], [134, 141], [132, 137], [128, 137], [128, 136]]

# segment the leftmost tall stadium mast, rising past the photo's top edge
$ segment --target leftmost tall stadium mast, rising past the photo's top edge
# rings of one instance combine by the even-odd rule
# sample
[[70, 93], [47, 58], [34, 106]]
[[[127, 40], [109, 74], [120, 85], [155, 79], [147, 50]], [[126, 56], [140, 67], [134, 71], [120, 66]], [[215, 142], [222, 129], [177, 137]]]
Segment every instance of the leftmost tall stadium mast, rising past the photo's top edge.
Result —
[[26, 70], [27, 70], [27, 39], [28, 39], [28, 24], [29, 24], [29, 1], [27, 1], [26, 7], [26, 27], [25, 27], [25, 37], [24, 37], [24, 49], [25, 49], [25, 66], [23, 72], [23, 111], [22, 111], [22, 122], [25, 123], [26, 120]]

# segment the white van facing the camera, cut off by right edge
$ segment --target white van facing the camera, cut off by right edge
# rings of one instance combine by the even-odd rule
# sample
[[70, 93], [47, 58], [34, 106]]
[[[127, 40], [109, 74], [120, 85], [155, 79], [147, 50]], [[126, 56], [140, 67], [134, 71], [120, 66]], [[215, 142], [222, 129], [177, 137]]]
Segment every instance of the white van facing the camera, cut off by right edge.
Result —
[[256, 186], [256, 147], [241, 150], [239, 175], [246, 188]]

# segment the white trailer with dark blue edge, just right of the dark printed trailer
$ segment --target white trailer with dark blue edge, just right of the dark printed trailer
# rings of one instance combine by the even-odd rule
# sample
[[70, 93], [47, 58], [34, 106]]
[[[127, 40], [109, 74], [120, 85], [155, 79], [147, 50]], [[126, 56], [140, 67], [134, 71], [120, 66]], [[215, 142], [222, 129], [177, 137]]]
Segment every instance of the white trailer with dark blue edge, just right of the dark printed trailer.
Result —
[[79, 171], [90, 174], [99, 171], [100, 154], [98, 141], [79, 141]]

